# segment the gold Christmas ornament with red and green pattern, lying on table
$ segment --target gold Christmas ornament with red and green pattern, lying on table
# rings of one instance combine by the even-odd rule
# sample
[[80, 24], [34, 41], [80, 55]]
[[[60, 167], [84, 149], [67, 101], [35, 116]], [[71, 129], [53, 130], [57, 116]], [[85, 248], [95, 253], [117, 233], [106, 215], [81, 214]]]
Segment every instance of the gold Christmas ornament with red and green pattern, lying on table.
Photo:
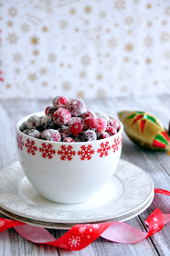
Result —
[[124, 131], [139, 146], [165, 151], [170, 155], [170, 135], [153, 115], [148, 112], [118, 112]]

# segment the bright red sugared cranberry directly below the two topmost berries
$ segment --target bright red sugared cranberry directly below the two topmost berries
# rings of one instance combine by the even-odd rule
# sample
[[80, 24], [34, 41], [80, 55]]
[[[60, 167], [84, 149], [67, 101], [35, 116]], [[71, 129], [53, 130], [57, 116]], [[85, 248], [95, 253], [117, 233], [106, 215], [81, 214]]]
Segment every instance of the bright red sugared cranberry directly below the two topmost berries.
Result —
[[58, 125], [66, 125], [69, 122], [70, 118], [71, 118], [70, 112], [63, 108], [59, 108], [53, 114], [54, 123]]

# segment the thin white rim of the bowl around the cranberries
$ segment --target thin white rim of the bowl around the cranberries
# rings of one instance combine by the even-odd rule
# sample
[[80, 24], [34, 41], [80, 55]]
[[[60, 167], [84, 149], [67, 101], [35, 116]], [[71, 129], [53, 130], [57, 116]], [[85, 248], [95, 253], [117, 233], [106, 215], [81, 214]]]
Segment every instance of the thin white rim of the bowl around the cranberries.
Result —
[[[96, 112], [96, 113], [98, 113], [98, 112]], [[122, 122], [121, 122], [120, 120], [118, 120], [117, 118], [114, 118], [114, 117], [108, 115], [111, 119], [116, 120], [116, 121], [119, 122], [120, 125], [121, 125], [121, 129], [119, 130], [119, 132], [116, 133], [116, 134], [114, 134], [114, 135], [112, 135], [112, 136], [110, 136], [110, 137], [108, 137], [108, 138], [104, 138], [104, 139], [100, 139], [100, 140], [96, 140], [96, 141], [75, 142], [75, 143], [52, 142], [52, 141], [48, 141], [48, 140], [43, 140], [43, 139], [37, 139], [37, 138], [34, 138], [34, 137], [30, 137], [30, 136], [28, 136], [27, 134], [25, 134], [25, 133], [23, 133], [23, 132], [21, 132], [21, 131], [19, 130], [19, 126], [20, 126], [22, 123], [24, 123], [24, 122], [25, 122], [30, 116], [32, 116], [32, 115], [46, 116], [46, 115], [45, 115], [45, 112], [35, 112], [35, 113], [31, 113], [31, 114], [28, 114], [28, 115], [24, 116], [23, 118], [21, 118], [21, 119], [19, 119], [19, 120], [17, 121], [17, 123], [16, 123], [16, 132], [17, 132], [17, 133], [20, 133], [23, 137], [26, 137], [27, 139], [28, 139], [28, 138], [31, 138], [31, 139], [34, 140], [35, 142], [39, 142], [39, 143], [42, 142], [42, 143], [58, 144], [58, 145], [59, 145], [59, 144], [71, 144], [71, 145], [76, 145], [76, 144], [99, 144], [99, 143], [101, 143], [101, 142], [107, 141], [108, 139], [111, 139], [112, 137], [116, 137], [116, 136], [120, 135], [120, 134], [122, 133], [122, 131], [123, 131], [123, 124], [122, 124]]]

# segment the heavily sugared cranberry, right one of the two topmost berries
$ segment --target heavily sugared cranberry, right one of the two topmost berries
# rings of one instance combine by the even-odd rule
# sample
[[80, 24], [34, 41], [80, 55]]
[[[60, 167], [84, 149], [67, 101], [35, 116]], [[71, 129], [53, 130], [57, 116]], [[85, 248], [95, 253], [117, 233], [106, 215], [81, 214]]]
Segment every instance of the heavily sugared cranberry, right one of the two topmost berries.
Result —
[[87, 112], [86, 105], [84, 104], [84, 101], [80, 99], [72, 99], [69, 100], [67, 103], [66, 108], [69, 110], [72, 116], [80, 116], [84, 112]]

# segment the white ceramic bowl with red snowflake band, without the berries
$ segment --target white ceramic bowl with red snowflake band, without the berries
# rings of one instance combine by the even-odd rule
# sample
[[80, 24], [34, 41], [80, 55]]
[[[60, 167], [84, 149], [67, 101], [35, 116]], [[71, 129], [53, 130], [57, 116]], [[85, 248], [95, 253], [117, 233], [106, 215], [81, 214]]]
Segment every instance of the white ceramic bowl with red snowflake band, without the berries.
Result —
[[[44, 112], [34, 114], [43, 116]], [[41, 196], [58, 203], [80, 203], [111, 181], [122, 151], [120, 121], [120, 131], [109, 138], [57, 143], [19, 130], [31, 115], [16, 123], [16, 148], [25, 175]]]

